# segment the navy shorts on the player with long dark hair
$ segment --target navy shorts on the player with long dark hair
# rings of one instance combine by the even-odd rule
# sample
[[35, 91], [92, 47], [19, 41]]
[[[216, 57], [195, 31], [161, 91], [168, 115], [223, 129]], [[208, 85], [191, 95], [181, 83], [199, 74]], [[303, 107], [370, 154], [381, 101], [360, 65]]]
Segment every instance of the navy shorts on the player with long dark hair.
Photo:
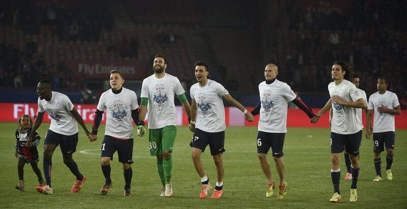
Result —
[[362, 141], [362, 130], [352, 134], [331, 132], [331, 153], [341, 153], [343, 150], [350, 155], [359, 155]]

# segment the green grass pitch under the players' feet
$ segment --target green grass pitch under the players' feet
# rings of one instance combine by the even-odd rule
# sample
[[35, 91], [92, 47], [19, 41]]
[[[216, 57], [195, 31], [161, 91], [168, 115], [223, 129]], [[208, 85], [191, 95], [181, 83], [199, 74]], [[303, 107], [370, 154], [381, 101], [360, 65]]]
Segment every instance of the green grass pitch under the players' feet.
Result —
[[[88, 125], [90, 127], [90, 125]], [[42, 124], [39, 167], [42, 175], [42, 145], [49, 124]], [[256, 127], [227, 127], [223, 161], [225, 166], [224, 195], [221, 199], [199, 199], [200, 178], [191, 160], [189, 147], [192, 133], [188, 127], [178, 127], [177, 141], [173, 149], [172, 197], [160, 197], [161, 183], [157, 174], [156, 159], [150, 156], [148, 135], [139, 137], [134, 131], [133, 180], [130, 197], [123, 196], [124, 177], [121, 163], [111, 161], [113, 187], [102, 196], [99, 190], [104, 183], [100, 168], [100, 147], [104, 134], [101, 125], [96, 142], [89, 142], [79, 131], [77, 151], [73, 155], [79, 170], [86, 175], [82, 190], [72, 194], [75, 181], [63, 163], [60, 148], [52, 157], [52, 187], [54, 194], [43, 195], [35, 191], [38, 181], [31, 166], [24, 167], [25, 191], [14, 189], [18, 183], [17, 159], [14, 156], [15, 123], [0, 123], [0, 204], [3, 208], [405, 208], [407, 207], [407, 130], [396, 130], [396, 145], [392, 165], [393, 180], [386, 179], [385, 153], [382, 153], [382, 182], [373, 182], [375, 177], [372, 140], [363, 137], [360, 148], [361, 170], [358, 181], [357, 202], [350, 202], [350, 181], [344, 181], [346, 167], [341, 157], [342, 202], [331, 203], [333, 194], [331, 181], [330, 130], [326, 128], [288, 128], [285, 135], [285, 175], [289, 190], [285, 199], [277, 200], [277, 192], [266, 198], [267, 180], [260, 168], [256, 154]], [[278, 182], [274, 161], [269, 153], [273, 179]], [[210, 150], [202, 154], [203, 166], [211, 183], [216, 183], [216, 170]], [[404, 173], [404, 174], [403, 174]], [[213, 191], [213, 190], [212, 190]], [[208, 196], [212, 195], [212, 191]]]

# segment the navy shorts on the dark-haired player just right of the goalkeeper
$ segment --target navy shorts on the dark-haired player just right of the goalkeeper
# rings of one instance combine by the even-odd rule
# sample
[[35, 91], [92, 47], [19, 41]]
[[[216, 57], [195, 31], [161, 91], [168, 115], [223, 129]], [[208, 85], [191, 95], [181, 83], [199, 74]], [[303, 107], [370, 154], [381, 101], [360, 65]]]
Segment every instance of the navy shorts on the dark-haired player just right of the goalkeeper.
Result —
[[225, 131], [211, 133], [195, 128], [194, 136], [192, 136], [189, 146], [204, 152], [208, 145], [212, 156], [225, 152]]

